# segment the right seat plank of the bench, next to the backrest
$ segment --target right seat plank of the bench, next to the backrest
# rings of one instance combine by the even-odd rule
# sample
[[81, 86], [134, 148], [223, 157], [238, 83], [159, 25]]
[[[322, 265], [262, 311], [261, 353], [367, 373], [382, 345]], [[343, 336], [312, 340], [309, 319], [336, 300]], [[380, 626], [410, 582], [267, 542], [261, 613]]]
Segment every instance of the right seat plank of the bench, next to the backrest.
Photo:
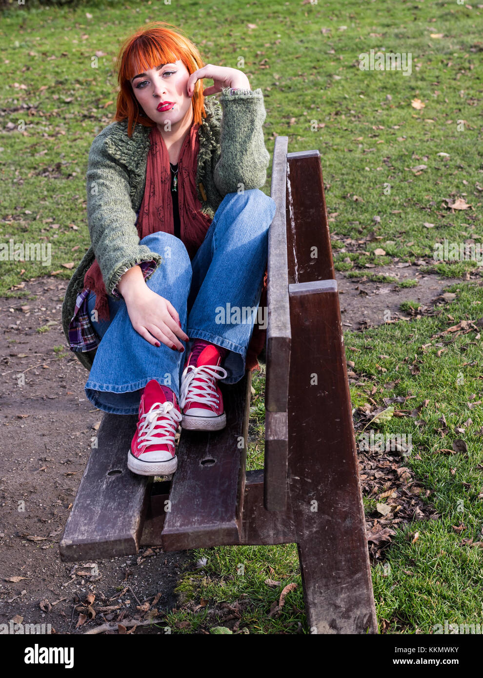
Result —
[[165, 551], [239, 543], [250, 384], [251, 372], [237, 384], [220, 383], [227, 414], [227, 426], [221, 431], [182, 431], [161, 533]]

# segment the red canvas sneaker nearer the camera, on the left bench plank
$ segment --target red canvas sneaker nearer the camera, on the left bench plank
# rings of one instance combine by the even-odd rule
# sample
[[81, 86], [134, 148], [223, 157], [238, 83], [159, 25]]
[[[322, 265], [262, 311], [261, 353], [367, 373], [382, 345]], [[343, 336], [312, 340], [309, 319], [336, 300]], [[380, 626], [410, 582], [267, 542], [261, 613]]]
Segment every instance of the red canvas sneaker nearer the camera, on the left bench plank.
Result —
[[[164, 387], [166, 388], [166, 386]], [[139, 420], [128, 452], [128, 468], [138, 475], [169, 475], [178, 458], [174, 436], [181, 421], [176, 395], [171, 399], [155, 379], [147, 382], [139, 403]]]

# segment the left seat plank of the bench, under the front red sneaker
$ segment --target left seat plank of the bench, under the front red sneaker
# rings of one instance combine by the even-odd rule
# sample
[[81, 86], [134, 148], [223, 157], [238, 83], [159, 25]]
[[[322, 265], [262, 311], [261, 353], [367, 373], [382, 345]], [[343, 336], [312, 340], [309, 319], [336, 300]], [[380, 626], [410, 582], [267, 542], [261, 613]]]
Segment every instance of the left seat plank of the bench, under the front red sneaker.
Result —
[[138, 553], [153, 478], [127, 467], [137, 420], [104, 413], [59, 545], [62, 561]]

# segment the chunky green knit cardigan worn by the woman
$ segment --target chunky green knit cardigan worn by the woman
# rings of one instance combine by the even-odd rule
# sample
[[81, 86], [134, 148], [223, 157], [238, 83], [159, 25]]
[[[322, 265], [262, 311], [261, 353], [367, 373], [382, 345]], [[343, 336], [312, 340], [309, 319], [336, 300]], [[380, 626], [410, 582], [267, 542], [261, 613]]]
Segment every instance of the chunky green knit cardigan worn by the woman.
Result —
[[[210, 218], [214, 218], [227, 193], [262, 188], [270, 161], [263, 138], [267, 113], [262, 90], [239, 89], [227, 94], [227, 89], [222, 89], [219, 100], [205, 99], [206, 117], [198, 129], [197, 194], [201, 211]], [[127, 121], [113, 122], [92, 142], [86, 174], [92, 245], [73, 273], [62, 304], [62, 327], [68, 346], [77, 295], [83, 290], [85, 272], [94, 258], [109, 295], [132, 266], [150, 260], [159, 266], [163, 261], [157, 252], [139, 244], [136, 228], [136, 213], [146, 183], [150, 129], [138, 124], [129, 138]], [[75, 352], [87, 370], [92, 367], [96, 350]]]

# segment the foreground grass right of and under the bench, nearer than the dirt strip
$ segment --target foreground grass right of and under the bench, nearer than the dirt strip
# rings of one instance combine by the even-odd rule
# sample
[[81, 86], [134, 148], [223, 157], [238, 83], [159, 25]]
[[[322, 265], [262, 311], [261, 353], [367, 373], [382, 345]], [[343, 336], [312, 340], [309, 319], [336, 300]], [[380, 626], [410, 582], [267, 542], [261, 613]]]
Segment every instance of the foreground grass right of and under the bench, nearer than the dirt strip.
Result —
[[[415, 521], [396, 530], [383, 562], [372, 567], [376, 612], [380, 626], [385, 620], [386, 633], [432, 633], [433, 626], [444, 625], [444, 620], [449, 624], [481, 621], [481, 551], [478, 546], [461, 543], [463, 538], [483, 540], [483, 409], [480, 404], [469, 407], [483, 399], [480, 340], [475, 331], [438, 335], [461, 320], [478, 320], [482, 300], [477, 286], [461, 284], [451, 289], [459, 290], [457, 300], [436, 317], [383, 325], [364, 334], [347, 332], [345, 337], [347, 358], [355, 361], [353, 369], [366, 380], [363, 386], [351, 385], [354, 407], [368, 402], [369, 397], [377, 405], [383, 405], [383, 397], [409, 397], [402, 405], [405, 409], [429, 400], [419, 419], [393, 416], [371, 424], [387, 435], [412, 436], [412, 451], [404, 465], [431, 490], [427, 501], [441, 514], [438, 520]], [[414, 356], [418, 358], [418, 374], [410, 369]], [[254, 388], [259, 398], [261, 378], [255, 379]], [[442, 415], [446, 427], [439, 421]], [[254, 435], [259, 424], [257, 417], [252, 426]], [[457, 439], [464, 439], [467, 452], [442, 452], [452, 450]], [[363, 500], [369, 515], [377, 500], [372, 496]], [[461, 534], [453, 530], [453, 525], [462, 524], [465, 530]], [[415, 532], [419, 532], [419, 538], [412, 543]], [[307, 633], [305, 614], [298, 611], [303, 610], [303, 599], [294, 544], [193, 551], [193, 563], [203, 557], [207, 561], [204, 576], [187, 572], [180, 584], [180, 591], [189, 591], [188, 599], [214, 605], [248, 596], [254, 610], [244, 612], [240, 626], [246, 625], [250, 633], [294, 633], [298, 622]], [[281, 584], [271, 588], [265, 584], [267, 578]], [[269, 618], [271, 604], [292, 582], [298, 588], [288, 595], [284, 615], [277, 620]], [[193, 633], [200, 623], [196, 615], [183, 610], [178, 610], [171, 621], [189, 622], [176, 633]]]

